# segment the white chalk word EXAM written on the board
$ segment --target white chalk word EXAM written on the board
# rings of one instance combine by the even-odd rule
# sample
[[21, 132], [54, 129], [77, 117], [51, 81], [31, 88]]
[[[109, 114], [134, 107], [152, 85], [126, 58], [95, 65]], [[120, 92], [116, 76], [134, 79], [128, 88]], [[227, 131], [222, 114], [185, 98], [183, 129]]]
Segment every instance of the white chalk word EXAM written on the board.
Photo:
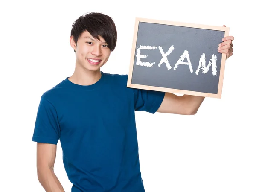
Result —
[[[138, 47], [138, 49], [137, 49], [136, 65], [152, 67], [155, 64], [155, 62], [150, 63], [150, 62], [140, 61], [140, 59], [148, 57], [148, 55], [141, 55], [140, 49], [144, 49], [144, 50], [145, 49], [157, 49], [157, 47], [140, 45], [140, 47]], [[160, 67], [161, 64], [165, 63], [168, 70], [172, 69], [172, 67], [169, 64], [169, 61], [167, 59], [167, 56], [172, 53], [172, 51], [174, 50], [174, 46], [172, 45], [172, 47], [170, 47], [166, 53], [163, 51], [163, 47], [158, 46], [158, 49], [162, 55], [162, 59], [160, 60], [158, 67]], [[188, 62], [184, 62], [185, 58], [187, 59]], [[195, 74], [198, 75], [200, 68], [202, 69], [203, 73], [207, 73], [209, 71], [209, 67], [212, 66], [212, 75], [216, 76], [217, 75], [216, 61], [217, 61], [217, 56], [213, 54], [212, 58], [209, 61], [209, 64], [206, 67], [205, 54], [203, 53], [201, 55], [201, 58], [199, 59], [199, 65], [198, 65], [197, 70], [195, 71]], [[180, 56], [179, 60], [176, 62], [175, 66], [173, 67], [173, 70], [176, 70], [179, 65], [188, 65], [190, 72], [193, 73], [192, 65], [191, 65], [190, 58], [189, 58], [189, 52], [187, 50], [185, 50], [183, 52], [183, 54]]]

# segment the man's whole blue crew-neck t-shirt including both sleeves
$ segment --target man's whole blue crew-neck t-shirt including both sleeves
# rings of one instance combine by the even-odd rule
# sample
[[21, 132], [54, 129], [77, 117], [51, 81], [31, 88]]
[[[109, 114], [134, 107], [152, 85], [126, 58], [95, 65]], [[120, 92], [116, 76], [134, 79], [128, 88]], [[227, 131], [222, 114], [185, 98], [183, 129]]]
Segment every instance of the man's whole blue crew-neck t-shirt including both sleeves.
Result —
[[135, 111], [155, 113], [164, 92], [127, 87], [128, 75], [95, 84], [68, 77], [41, 96], [32, 141], [57, 144], [72, 192], [145, 192]]

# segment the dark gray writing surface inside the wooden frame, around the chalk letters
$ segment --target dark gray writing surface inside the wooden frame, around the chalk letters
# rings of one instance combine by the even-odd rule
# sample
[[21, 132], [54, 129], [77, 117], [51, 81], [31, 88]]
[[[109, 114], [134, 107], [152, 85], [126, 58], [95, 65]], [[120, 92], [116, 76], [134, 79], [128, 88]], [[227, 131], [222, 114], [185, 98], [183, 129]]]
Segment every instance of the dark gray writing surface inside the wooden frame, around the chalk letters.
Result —
[[[139, 22], [131, 83], [217, 94], [222, 57], [217, 48], [218, 44], [222, 42], [224, 33], [224, 31], [212, 29]], [[158, 64], [163, 58], [159, 46], [166, 53], [172, 45], [174, 49], [167, 56], [172, 68], [168, 70], [166, 63], [162, 63], [159, 67]], [[147, 55], [140, 61], [154, 62], [152, 67], [136, 64], [136, 55], [140, 46], [157, 47], [156, 49], [140, 49], [140, 55]], [[175, 64], [185, 50], [189, 54], [192, 73], [189, 70], [189, 65], [184, 64], [178, 65], [174, 70]], [[198, 75], [195, 73], [203, 53], [206, 67], [212, 55], [216, 55], [216, 75], [212, 75], [212, 66], [209, 67], [207, 73], [202, 73], [202, 68]], [[187, 58], [184, 59], [184, 62], [187, 62]]]

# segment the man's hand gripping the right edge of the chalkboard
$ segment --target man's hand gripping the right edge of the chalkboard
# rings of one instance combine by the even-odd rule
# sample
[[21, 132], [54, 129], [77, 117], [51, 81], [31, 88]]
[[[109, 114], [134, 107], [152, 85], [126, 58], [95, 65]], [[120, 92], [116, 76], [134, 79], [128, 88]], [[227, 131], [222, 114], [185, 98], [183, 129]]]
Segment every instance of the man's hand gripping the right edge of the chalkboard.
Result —
[[[223, 26], [226, 27], [225, 25]], [[233, 36], [227, 36], [222, 38], [223, 42], [219, 44], [218, 52], [226, 53], [226, 59], [233, 55], [233, 40]]]

